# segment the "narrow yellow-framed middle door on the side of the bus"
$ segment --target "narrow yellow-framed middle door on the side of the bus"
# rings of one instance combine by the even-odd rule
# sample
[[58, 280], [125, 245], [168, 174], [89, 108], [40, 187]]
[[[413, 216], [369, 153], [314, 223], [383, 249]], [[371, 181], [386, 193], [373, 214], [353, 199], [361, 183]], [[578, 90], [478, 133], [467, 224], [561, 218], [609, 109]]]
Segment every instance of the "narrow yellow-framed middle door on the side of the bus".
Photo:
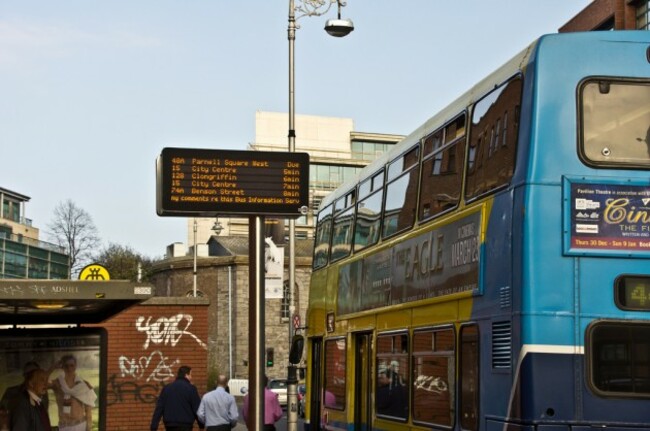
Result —
[[354, 334], [354, 429], [368, 431], [371, 422], [372, 332]]

